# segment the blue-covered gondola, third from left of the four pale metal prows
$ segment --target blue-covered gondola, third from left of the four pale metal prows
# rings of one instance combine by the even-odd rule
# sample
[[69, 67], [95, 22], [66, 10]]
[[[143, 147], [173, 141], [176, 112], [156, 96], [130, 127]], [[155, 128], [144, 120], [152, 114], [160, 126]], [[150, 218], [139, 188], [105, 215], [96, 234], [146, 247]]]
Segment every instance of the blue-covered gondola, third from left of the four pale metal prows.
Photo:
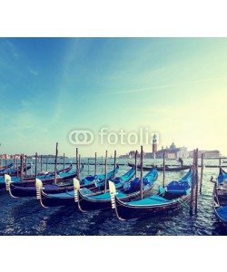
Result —
[[[147, 197], [151, 195], [154, 181], [158, 178], [158, 171], [156, 169], [151, 170], [145, 176], [143, 176], [143, 195]], [[140, 179], [124, 183], [123, 188], [118, 186], [118, 183], [114, 183], [114, 187], [117, 189], [118, 198], [123, 201], [133, 201], [140, 199]], [[80, 189], [80, 184], [76, 183], [75, 200], [78, 201], [78, 208], [81, 211], [93, 210], [93, 209], [111, 209], [111, 195], [109, 191], [101, 191], [93, 193], [89, 189]]]

